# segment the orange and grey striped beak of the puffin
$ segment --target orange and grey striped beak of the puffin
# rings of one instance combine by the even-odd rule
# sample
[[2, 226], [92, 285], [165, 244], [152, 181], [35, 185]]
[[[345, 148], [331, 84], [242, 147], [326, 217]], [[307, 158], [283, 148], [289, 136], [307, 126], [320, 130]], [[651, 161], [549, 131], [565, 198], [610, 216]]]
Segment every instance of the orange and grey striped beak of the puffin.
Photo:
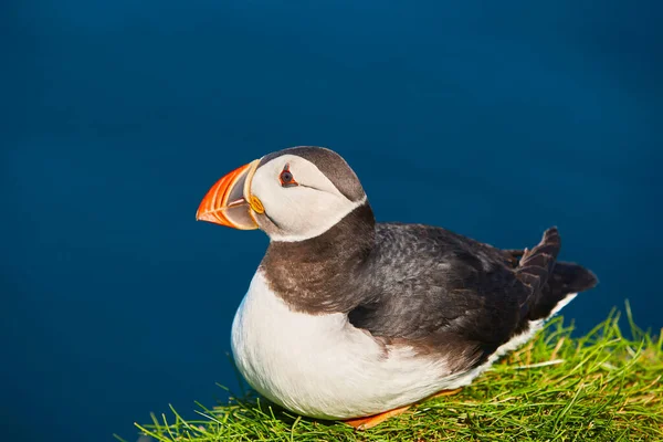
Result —
[[259, 164], [259, 159], [251, 161], [217, 181], [200, 202], [196, 220], [240, 230], [257, 229], [255, 213], [264, 209], [251, 194], [251, 181]]

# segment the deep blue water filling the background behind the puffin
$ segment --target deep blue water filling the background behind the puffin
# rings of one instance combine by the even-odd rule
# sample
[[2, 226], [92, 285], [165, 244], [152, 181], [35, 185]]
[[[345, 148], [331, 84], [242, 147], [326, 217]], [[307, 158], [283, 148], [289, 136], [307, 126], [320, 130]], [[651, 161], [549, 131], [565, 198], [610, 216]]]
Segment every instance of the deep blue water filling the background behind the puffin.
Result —
[[627, 297], [663, 326], [660, 2], [284, 3], [2, 3], [0, 439], [134, 441], [224, 398], [267, 241], [196, 209], [293, 145], [338, 150], [380, 220], [557, 224], [601, 278], [580, 332]]

